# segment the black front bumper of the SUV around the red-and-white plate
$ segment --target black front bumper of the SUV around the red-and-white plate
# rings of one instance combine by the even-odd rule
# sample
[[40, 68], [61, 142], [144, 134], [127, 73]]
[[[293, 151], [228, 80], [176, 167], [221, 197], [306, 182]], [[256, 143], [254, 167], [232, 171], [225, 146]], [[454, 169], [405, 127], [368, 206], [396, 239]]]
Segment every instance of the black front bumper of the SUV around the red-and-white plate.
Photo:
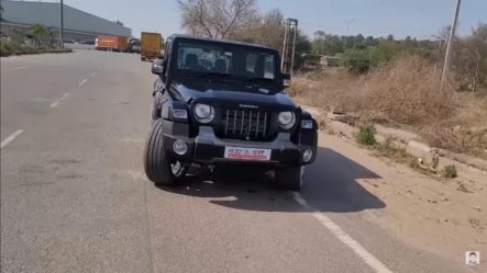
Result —
[[[165, 130], [167, 132], [167, 130]], [[296, 145], [290, 140], [289, 133], [279, 133], [274, 141], [270, 143], [257, 143], [233, 139], [220, 139], [214, 135], [213, 128], [209, 126], [200, 126], [199, 135], [196, 138], [189, 138], [178, 134], [170, 134], [174, 130], [170, 129], [164, 134], [164, 147], [166, 152], [170, 157], [181, 160], [198, 162], [204, 164], [218, 164], [218, 163], [258, 163], [258, 164], [309, 164], [312, 163], [317, 155], [316, 140], [311, 140], [309, 144]], [[188, 146], [188, 151], [184, 156], [176, 155], [173, 150], [173, 145], [176, 140], [182, 140]], [[257, 148], [257, 149], [270, 149], [270, 160], [268, 161], [254, 161], [254, 160], [237, 160], [224, 158], [225, 147], [240, 147], [240, 148]], [[311, 160], [305, 162], [302, 160], [302, 153], [305, 150], [312, 150]]]

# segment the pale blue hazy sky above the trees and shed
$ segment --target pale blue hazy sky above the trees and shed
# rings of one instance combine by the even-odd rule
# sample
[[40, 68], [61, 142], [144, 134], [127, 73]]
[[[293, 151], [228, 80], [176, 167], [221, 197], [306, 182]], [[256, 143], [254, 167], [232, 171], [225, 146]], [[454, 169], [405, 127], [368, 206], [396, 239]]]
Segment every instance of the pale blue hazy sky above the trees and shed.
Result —
[[[456, 0], [256, 0], [262, 12], [280, 9], [285, 18], [299, 20], [299, 27], [312, 36], [316, 31], [364, 36], [431, 38], [450, 25]], [[58, 0], [57, 0], [58, 2]], [[65, 4], [115, 21], [132, 29], [157, 31], [168, 36], [182, 33], [176, 0], [64, 0]], [[460, 35], [467, 35], [478, 22], [487, 23], [487, 0], [463, 0], [458, 16]], [[350, 26], [350, 27], [348, 27]]]

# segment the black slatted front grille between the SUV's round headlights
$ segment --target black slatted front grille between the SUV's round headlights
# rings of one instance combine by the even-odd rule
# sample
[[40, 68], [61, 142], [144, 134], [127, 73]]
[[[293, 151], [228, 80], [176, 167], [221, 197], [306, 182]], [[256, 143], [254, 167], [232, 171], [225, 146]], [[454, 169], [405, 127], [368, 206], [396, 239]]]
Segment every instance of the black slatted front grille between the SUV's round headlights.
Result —
[[222, 111], [222, 137], [262, 141], [268, 139], [270, 113], [251, 110]]

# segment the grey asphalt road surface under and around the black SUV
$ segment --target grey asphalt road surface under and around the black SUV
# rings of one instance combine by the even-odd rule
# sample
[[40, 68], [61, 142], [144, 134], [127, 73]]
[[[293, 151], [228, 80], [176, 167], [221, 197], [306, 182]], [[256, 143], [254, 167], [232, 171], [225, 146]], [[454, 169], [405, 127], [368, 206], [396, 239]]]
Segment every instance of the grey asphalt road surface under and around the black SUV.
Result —
[[356, 183], [380, 175], [340, 143], [301, 194], [241, 169], [154, 186], [153, 79], [130, 54], [1, 59], [2, 272], [468, 272], [380, 227]]

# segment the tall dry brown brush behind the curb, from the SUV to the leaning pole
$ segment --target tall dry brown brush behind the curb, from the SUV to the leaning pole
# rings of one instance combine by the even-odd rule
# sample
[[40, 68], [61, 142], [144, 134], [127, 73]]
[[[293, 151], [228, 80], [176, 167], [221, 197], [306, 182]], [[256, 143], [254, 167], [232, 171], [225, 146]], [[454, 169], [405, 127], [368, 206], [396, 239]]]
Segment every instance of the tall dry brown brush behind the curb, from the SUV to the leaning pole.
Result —
[[323, 71], [319, 80], [294, 79], [289, 90], [305, 103], [354, 113], [365, 121], [428, 126], [455, 116], [454, 91], [440, 91], [439, 72], [418, 56], [406, 56], [365, 76]]

